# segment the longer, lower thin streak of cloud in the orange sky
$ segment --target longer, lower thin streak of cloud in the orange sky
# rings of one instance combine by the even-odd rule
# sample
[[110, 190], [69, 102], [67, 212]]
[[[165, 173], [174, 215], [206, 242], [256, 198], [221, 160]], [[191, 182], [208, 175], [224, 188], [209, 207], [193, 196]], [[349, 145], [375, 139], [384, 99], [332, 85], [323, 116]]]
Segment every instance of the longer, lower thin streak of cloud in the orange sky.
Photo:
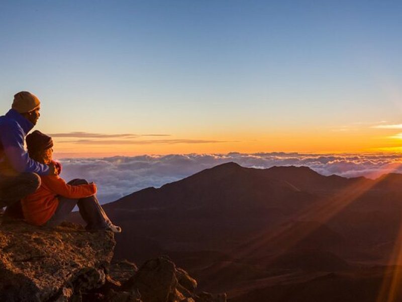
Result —
[[220, 143], [228, 142], [224, 140], [208, 140], [208, 139], [153, 139], [153, 140], [97, 140], [97, 139], [79, 139], [64, 140], [61, 143], [76, 143], [89, 145], [121, 145], [121, 144], [178, 144], [178, 143]]

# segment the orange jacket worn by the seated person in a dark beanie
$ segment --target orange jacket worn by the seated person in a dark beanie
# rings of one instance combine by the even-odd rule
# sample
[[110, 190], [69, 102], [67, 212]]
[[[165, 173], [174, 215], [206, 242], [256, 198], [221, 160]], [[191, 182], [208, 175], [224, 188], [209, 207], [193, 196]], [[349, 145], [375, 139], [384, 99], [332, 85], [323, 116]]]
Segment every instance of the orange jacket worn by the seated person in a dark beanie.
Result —
[[41, 176], [39, 189], [21, 200], [27, 222], [42, 225], [53, 216], [59, 204], [58, 196], [84, 198], [96, 193], [95, 184], [71, 186], [59, 176]]

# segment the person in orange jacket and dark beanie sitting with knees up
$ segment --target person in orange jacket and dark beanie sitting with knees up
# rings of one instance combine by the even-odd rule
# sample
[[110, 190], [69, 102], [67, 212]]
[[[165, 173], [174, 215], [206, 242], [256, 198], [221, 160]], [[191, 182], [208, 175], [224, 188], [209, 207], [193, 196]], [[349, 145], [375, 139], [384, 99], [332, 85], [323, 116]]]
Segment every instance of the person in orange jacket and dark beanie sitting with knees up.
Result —
[[[26, 138], [29, 156], [42, 163], [61, 165], [52, 160], [53, 141], [50, 136], [35, 130]], [[96, 198], [96, 185], [82, 179], [66, 183], [59, 175], [41, 176], [39, 189], [22, 199], [24, 217], [34, 225], [56, 226], [69, 215], [75, 205], [87, 225], [88, 231], [110, 230], [120, 233], [120, 226], [114, 225]]]

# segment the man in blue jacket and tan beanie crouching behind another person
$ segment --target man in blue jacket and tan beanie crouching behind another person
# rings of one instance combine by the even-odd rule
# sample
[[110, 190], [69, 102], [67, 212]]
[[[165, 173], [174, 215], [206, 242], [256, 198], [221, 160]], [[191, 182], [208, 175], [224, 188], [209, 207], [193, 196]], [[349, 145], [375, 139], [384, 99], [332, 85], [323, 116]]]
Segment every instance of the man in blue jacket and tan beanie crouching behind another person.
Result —
[[24, 147], [25, 136], [39, 119], [39, 110], [39, 99], [22, 91], [14, 96], [12, 109], [0, 116], [0, 209], [7, 206], [6, 213], [9, 208], [13, 211], [13, 207], [20, 207], [18, 201], [39, 188], [38, 175], [57, 173], [54, 165], [32, 160]]

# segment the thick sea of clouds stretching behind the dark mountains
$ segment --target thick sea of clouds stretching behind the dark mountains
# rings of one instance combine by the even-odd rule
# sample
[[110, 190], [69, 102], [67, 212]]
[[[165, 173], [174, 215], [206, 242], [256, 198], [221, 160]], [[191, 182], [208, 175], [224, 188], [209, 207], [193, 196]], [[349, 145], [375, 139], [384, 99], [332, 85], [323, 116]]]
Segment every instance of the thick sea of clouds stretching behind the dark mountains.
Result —
[[180, 180], [214, 166], [235, 162], [243, 167], [265, 169], [272, 166], [307, 166], [322, 175], [376, 178], [402, 173], [400, 154], [186, 154], [109, 158], [61, 159], [65, 180], [83, 178], [96, 183], [100, 203], [117, 200], [147, 187]]

